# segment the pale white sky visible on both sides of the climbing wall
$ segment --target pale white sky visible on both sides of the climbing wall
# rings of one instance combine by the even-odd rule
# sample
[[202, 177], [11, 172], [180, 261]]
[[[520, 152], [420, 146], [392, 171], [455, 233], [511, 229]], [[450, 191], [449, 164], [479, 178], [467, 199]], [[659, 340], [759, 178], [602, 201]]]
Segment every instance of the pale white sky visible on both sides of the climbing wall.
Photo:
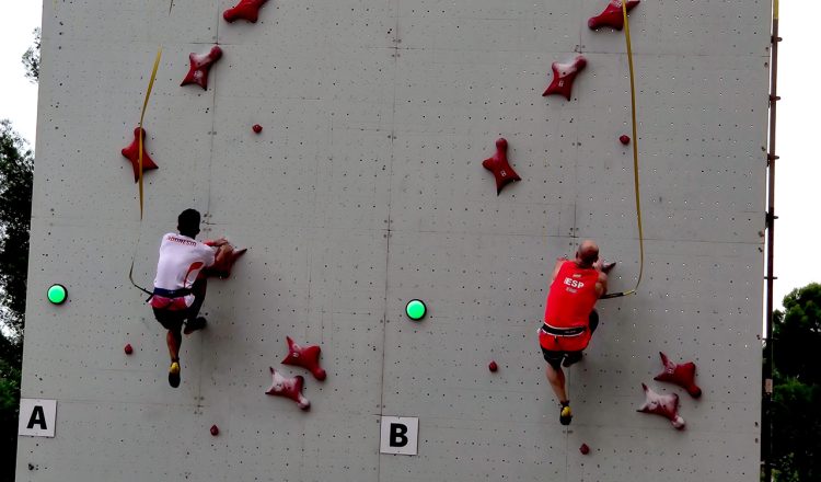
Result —
[[[32, 147], [37, 85], [24, 77], [20, 58], [32, 45], [32, 31], [41, 24], [42, 8], [41, 0], [9, 0], [0, 15], [0, 118], [10, 119]], [[813, 124], [821, 113], [817, 85], [821, 67], [816, 60], [821, 45], [814, 31], [814, 20], [821, 18], [821, 2], [782, 0], [779, 16], [784, 42], [778, 58], [778, 95], [783, 100], [778, 103], [776, 134], [776, 153], [780, 157], [775, 175], [776, 307], [791, 289], [821, 282], [821, 254], [813, 251], [821, 239], [821, 216], [812, 208], [818, 204], [812, 199], [818, 199], [821, 191], [821, 156], [814, 142], [814, 137], [821, 136], [821, 123]], [[766, 206], [762, 204], [761, 210], [763, 222]], [[762, 284], [763, 277], [764, 273]]]

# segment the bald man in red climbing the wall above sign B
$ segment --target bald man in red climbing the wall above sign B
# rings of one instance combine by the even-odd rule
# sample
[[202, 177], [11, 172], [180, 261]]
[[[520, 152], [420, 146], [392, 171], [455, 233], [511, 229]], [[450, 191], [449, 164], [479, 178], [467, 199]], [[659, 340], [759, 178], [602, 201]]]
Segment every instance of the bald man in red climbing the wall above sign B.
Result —
[[579, 362], [581, 351], [590, 343], [599, 324], [599, 314], [593, 308], [595, 301], [608, 292], [608, 273], [614, 265], [603, 265], [599, 260], [599, 246], [585, 240], [576, 251], [575, 260], [558, 259], [553, 268], [539, 344], [547, 362], [547, 381], [562, 405], [562, 425], [569, 425], [573, 420], [562, 365], [569, 367]]

